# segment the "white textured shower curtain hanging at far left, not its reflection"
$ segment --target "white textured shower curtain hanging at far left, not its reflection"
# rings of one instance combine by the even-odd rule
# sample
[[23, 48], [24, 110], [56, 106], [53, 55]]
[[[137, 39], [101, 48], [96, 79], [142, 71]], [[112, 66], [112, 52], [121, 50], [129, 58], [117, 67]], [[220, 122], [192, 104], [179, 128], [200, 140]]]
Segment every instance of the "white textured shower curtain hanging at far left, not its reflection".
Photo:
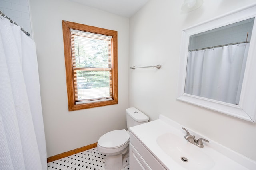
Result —
[[0, 170], [46, 170], [36, 48], [0, 17]]

